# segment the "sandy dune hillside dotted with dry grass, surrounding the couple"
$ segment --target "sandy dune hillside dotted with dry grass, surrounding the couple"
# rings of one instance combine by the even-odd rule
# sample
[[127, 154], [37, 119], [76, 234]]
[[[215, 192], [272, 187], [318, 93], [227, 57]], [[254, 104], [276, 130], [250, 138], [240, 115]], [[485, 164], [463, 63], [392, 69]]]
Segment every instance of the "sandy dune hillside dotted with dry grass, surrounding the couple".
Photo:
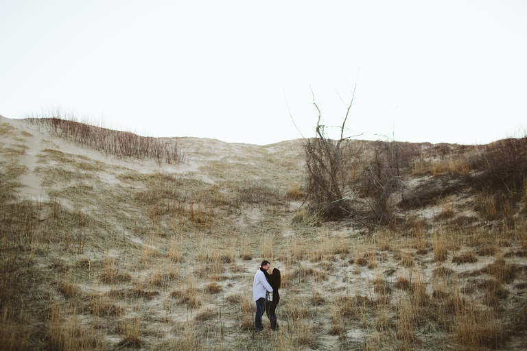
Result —
[[[524, 139], [397, 143], [378, 223], [355, 174], [386, 143], [352, 142], [366, 185], [329, 221], [303, 140], [75, 128], [0, 118], [2, 350], [527, 349]], [[262, 259], [281, 328], [255, 334]]]

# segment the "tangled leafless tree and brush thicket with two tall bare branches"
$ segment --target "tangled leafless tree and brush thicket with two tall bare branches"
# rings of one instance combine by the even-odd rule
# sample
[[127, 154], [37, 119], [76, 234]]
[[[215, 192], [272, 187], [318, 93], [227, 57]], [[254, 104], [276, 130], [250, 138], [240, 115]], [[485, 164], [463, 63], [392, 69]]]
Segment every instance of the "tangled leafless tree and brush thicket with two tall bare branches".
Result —
[[318, 112], [316, 136], [305, 143], [310, 206], [327, 220], [356, 217], [390, 223], [392, 195], [403, 185], [397, 144], [379, 141], [371, 143], [373, 149], [369, 149], [344, 136], [354, 95], [355, 89], [337, 140], [327, 136], [326, 126], [320, 124], [320, 108], [313, 101]]

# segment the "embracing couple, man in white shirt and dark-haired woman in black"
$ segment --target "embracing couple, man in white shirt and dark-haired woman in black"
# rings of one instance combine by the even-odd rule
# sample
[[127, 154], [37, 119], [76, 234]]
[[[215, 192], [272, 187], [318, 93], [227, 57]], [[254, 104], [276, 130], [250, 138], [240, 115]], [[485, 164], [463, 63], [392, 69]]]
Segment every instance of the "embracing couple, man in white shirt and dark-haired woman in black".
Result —
[[280, 288], [281, 276], [277, 268], [272, 269], [269, 274], [268, 270], [270, 266], [271, 264], [268, 261], [263, 261], [261, 266], [258, 267], [253, 282], [253, 299], [256, 302], [256, 331], [264, 330], [264, 327], [261, 325], [261, 316], [264, 315], [264, 311], [266, 311], [267, 317], [271, 322], [271, 329], [278, 330], [275, 311], [280, 301], [278, 289]]

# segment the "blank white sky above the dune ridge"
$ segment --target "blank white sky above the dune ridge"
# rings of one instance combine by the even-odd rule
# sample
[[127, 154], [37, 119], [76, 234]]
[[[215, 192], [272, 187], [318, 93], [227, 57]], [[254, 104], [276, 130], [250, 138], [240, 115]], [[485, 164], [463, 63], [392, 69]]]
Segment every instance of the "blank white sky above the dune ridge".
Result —
[[[527, 1], [0, 1], [0, 114], [266, 145], [525, 134]], [[342, 97], [342, 101], [341, 101]], [[286, 103], [287, 101], [287, 103]], [[343, 102], [344, 101], [344, 102]]]

